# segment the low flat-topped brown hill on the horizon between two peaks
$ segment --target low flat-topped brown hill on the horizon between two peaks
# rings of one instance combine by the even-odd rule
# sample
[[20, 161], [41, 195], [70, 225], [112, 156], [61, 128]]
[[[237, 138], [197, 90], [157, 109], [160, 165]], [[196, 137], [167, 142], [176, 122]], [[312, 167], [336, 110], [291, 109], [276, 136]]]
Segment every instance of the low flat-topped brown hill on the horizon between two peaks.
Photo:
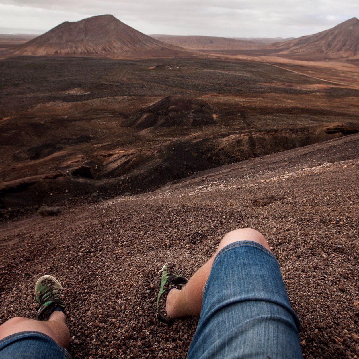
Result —
[[151, 35], [153, 38], [171, 45], [177, 45], [194, 50], [251, 50], [261, 45], [252, 41], [231, 39], [216, 36], [177, 36]]

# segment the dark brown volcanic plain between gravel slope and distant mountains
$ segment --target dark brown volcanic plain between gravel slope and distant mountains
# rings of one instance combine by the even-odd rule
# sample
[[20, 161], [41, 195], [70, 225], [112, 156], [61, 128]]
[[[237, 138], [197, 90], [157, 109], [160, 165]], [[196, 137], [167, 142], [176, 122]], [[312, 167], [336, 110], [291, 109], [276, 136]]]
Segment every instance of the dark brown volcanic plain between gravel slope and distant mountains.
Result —
[[359, 129], [355, 86], [265, 62], [18, 57], [0, 71], [4, 219]]

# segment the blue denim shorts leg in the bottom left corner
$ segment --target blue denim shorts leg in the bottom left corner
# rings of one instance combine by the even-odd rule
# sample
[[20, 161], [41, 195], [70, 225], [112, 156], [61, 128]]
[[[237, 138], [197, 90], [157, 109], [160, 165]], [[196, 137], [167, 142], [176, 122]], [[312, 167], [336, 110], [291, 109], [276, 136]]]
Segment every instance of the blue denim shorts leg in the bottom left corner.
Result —
[[26, 331], [0, 340], [0, 359], [71, 359], [71, 355], [46, 334]]

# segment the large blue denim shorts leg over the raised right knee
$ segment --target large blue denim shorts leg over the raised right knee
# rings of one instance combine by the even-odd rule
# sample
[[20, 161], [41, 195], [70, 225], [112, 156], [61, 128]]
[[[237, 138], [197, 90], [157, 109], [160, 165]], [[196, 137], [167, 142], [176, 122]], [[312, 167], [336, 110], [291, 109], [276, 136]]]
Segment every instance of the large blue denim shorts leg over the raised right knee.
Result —
[[234, 242], [214, 259], [187, 358], [302, 358], [299, 329], [275, 257]]

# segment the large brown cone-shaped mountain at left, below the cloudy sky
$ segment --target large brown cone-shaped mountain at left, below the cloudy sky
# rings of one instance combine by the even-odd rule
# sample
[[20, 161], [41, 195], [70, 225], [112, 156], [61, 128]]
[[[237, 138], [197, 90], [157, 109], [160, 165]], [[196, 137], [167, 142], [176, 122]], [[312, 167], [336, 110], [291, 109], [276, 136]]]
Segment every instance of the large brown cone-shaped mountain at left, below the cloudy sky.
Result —
[[101, 15], [66, 21], [14, 48], [12, 55], [176, 56], [182, 51], [135, 30], [112, 15]]

